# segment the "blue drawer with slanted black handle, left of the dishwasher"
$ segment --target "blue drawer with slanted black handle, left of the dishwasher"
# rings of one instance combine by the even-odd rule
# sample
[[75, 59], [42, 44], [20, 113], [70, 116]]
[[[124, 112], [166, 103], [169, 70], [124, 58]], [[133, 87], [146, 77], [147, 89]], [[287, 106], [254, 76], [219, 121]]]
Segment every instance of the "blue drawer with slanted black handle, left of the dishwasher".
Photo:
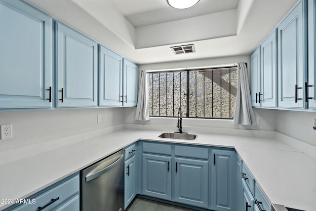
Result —
[[[71, 196], [73, 199], [76, 199], [70, 200], [72, 202], [72, 207], [79, 208], [79, 186], [79, 174], [77, 174], [76, 176], [69, 178], [64, 182], [59, 183], [57, 186], [52, 185], [52, 187], [50, 186], [44, 189], [43, 191], [39, 192], [40, 195], [36, 194], [29, 197], [29, 204], [24, 204], [22, 206], [15, 207], [14, 209], [8, 208], [8, 210], [5, 211], [37, 211], [39, 207], [44, 207], [45, 205], [50, 204], [42, 210], [48, 211], [60, 206], [64, 207], [64, 205], [61, 205], [63, 202], [65, 205], [68, 205], [68, 202], [65, 200]], [[75, 204], [75, 202], [77, 202], [78, 205]]]

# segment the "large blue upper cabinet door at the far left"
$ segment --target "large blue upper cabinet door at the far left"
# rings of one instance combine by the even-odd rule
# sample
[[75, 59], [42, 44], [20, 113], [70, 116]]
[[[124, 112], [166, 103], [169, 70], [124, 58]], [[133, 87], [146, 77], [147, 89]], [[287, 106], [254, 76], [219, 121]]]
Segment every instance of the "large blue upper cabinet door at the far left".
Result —
[[52, 19], [22, 1], [0, 0], [0, 26], [0, 108], [51, 107]]

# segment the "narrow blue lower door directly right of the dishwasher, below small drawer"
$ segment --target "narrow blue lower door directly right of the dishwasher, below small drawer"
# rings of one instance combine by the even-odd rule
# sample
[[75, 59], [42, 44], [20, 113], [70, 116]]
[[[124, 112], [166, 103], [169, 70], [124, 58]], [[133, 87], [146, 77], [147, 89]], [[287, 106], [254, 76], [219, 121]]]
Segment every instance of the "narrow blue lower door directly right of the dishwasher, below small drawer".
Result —
[[136, 156], [134, 155], [133, 157], [125, 161], [124, 210], [136, 196], [136, 176]]

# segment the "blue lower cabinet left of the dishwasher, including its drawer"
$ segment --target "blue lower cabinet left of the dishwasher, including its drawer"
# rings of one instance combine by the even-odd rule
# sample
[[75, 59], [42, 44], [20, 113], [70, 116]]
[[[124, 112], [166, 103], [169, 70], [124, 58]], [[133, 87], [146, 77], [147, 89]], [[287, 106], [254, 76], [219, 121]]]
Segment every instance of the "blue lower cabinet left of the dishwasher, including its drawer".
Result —
[[76, 173], [30, 196], [26, 199], [29, 203], [4, 211], [80, 211], [79, 187], [79, 173]]

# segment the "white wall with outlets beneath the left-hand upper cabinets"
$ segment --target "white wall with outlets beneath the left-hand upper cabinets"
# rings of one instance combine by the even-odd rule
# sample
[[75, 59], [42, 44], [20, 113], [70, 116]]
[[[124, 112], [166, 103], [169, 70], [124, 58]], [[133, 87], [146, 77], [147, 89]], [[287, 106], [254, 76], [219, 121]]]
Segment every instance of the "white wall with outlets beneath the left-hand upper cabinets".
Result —
[[122, 124], [123, 109], [0, 111], [0, 125], [12, 124], [13, 130], [13, 138], [0, 140], [0, 152]]

